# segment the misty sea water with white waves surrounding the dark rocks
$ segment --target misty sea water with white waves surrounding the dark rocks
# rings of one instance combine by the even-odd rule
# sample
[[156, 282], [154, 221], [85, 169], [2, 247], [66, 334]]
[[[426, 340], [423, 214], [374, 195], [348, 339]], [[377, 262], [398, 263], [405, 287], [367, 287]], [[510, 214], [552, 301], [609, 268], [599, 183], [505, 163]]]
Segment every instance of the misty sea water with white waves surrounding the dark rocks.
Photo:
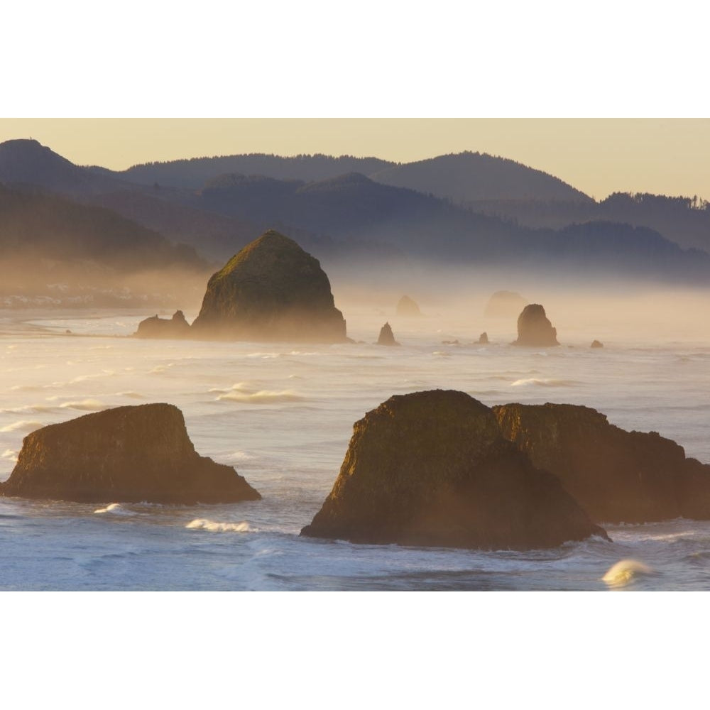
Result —
[[[660, 432], [710, 461], [710, 344], [594, 333], [510, 345], [515, 322], [348, 312], [355, 344], [140, 340], [145, 312], [0, 316], [0, 480], [30, 431], [119, 405], [168, 402], [197, 452], [263, 496], [224, 506], [0, 498], [4, 590], [687, 590], [710, 587], [710, 521], [606, 525], [555, 550], [481, 552], [299, 537], [329, 493], [352, 426], [394, 394], [457, 389], [486, 405], [572, 403]], [[186, 314], [188, 320], [195, 313]], [[562, 329], [558, 329], [562, 332]], [[459, 344], [444, 341], [459, 340]]]

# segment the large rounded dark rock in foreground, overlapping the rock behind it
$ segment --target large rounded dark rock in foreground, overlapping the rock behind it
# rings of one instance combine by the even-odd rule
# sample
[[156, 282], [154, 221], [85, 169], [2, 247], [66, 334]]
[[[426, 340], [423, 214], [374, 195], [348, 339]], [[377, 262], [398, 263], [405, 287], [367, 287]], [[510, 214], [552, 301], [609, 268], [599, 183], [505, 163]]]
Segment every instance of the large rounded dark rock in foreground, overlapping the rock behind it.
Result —
[[309, 537], [484, 549], [556, 547], [606, 532], [457, 391], [395, 395], [355, 422]]

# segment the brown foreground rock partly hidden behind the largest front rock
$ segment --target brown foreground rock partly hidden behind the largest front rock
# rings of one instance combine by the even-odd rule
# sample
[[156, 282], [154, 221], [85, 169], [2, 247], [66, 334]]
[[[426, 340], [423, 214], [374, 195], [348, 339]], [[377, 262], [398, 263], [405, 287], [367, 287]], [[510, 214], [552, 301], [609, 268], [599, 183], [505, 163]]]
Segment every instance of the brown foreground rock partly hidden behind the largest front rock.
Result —
[[604, 523], [710, 519], [710, 466], [656, 432], [626, 432], [588, 407], [493, 407], [503, 436]]

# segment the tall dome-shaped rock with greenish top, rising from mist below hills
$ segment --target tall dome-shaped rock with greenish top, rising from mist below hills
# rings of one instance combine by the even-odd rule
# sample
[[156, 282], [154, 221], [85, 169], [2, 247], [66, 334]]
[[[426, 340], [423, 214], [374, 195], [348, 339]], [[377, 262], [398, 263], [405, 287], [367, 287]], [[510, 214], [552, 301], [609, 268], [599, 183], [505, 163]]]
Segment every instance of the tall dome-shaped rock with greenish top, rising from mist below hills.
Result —
[[205, 338], [346, 342], [320, 262], [273, 229], [212, 275], [192, 331]]

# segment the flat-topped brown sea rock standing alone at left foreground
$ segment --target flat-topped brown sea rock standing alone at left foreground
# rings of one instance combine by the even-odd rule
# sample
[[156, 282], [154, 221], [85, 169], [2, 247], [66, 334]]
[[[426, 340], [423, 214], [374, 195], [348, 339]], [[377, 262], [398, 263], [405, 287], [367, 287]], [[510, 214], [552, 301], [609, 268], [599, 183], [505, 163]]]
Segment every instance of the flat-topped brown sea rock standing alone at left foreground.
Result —
[[23, 439], [4, 496], [79, 503], [235, 503], [261, 498], [231, 466], [201, 457], [169, 404], [117, 407]]

